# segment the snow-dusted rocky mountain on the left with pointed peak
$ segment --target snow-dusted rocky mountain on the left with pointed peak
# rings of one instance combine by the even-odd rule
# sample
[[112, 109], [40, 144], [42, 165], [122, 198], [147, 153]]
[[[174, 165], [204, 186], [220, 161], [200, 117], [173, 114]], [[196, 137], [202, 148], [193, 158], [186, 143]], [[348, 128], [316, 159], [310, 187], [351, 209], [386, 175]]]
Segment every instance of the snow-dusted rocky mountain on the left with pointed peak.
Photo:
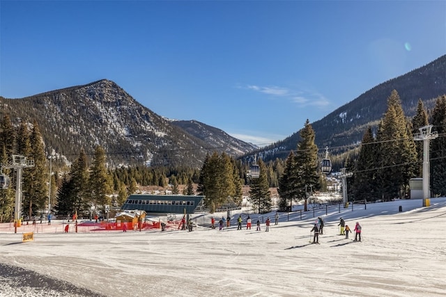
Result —
[[[8, 113], [15, 125], [37, 120], [45, 150], [75, 159], [101, 145], [110, 166], [144, 163], [153, 166], [201, 167], [206, 153], [246, 154], [254, 147], [220, 129], [192, 129], [153, 113], [113, 81], [54, 90], [22, 99], [0, 97], [0, 116]], [[183, 127], [182, 127], [183, 126]]]

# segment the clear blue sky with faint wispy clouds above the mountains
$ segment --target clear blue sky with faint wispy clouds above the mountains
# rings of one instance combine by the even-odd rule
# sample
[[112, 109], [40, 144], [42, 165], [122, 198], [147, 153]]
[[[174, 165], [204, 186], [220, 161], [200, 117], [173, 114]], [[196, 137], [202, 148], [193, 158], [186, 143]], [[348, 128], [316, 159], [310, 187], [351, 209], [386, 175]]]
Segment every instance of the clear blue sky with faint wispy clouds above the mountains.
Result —
[[1, 96], [110, 79], [257, 145], [443, 54], [446, 1], [0, 1]]

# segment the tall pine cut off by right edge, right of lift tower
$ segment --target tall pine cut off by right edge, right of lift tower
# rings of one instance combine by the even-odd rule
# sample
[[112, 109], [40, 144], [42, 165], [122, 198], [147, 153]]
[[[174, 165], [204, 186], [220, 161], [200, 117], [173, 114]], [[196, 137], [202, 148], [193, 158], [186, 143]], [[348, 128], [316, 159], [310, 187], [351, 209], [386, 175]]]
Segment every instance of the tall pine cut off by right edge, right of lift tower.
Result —
[[[433, 195], [446, 195], [446, 95], [437, 98], [432, 111], [432, 131], [440, 137], [431, 141], [431, 191]], [[442, 137], [443, 136], [443, 137]]]

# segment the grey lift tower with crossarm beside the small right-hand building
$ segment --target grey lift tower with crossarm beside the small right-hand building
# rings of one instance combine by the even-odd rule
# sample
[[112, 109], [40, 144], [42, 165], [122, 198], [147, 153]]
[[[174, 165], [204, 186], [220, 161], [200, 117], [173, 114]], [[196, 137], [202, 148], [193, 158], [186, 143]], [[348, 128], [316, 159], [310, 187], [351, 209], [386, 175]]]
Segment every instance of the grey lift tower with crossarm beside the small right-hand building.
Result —
[[431, 170], [429, 166], [429, 141], [438, 137], [437, 131], [432, 132], [432, 125], [421, 127], [420, 133], [415, 134], [415, 141], [423, 141], [423, 206], [429, 207], [431, 198], [429, 186]]

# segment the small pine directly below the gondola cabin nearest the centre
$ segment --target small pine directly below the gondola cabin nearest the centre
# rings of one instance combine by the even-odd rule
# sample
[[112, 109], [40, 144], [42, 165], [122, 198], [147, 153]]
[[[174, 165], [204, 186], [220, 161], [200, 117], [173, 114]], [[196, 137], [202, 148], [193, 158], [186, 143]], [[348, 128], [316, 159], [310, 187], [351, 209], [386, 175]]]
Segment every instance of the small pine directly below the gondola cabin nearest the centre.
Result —
[[249, 185], [249, 202], [259, 214], [265, 214], [271, 210], [271, 193], [269, 191], [266, 166], [262, 159], [259, 159], [259, 178], [252, 179]]

